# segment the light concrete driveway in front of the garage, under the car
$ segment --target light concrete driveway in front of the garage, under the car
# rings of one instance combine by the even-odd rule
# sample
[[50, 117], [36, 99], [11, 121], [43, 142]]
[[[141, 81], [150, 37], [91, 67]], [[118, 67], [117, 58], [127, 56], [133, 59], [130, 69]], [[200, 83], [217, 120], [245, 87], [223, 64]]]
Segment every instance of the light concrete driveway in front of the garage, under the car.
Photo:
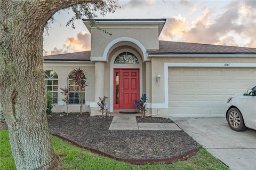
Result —
[[256, 169], [256, 131], [233, 131], [225, 118], [171, 119], [230, 169]]

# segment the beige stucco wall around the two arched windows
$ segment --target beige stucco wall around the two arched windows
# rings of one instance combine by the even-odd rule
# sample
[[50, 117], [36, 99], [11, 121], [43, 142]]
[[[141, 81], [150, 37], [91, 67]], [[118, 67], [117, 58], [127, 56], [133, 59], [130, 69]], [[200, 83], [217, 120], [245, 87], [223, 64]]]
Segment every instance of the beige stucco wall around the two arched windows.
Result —
[[[86, 72], [87, 83], [89, 86], [85, 88], [85, 100], [86, 103], [83, 106], [84, 111], [90, 111], [90, 102], [94, 101], [94, 63], [60, 63], [60, 62], [44, 62], [44, 70], [53, 70], [58, 75], [58, 104], [53, 107], [53, 112], [66, 111], [66, 106], [63, 106], [62, 99], [64, 96], [60, 94], [60, 87], [64, 88], [67, 86], [68, 76], [71, 71], [75, 68], [82, 68]], [[79, 104], [78, 104], [79, 105]], [[79, 106], [77, 104], [69, 104], [69, 112], [78, 112]]]

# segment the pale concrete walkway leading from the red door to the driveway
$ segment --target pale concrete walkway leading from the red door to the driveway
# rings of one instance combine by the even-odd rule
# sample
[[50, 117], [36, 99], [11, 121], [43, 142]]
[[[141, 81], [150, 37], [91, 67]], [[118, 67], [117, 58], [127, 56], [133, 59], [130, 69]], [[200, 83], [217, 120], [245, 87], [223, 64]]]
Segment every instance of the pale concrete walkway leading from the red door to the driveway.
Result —
[[109, 130], [182, 131], [174, 123], [137, 123], [135, 116], [114, 116]]

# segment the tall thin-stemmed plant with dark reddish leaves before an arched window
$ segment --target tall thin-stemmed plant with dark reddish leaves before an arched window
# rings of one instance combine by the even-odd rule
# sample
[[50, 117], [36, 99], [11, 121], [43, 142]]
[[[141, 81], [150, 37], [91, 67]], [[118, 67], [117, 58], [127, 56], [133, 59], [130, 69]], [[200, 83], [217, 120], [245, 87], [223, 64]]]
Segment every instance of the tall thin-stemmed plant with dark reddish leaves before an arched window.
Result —
[[[73, 75], [74, 75], [74, 81], [79, 86], [79, 92], [82, 92], [85, 86], [88, 84], [86, 83], [86, 77], [85, 72], [81, 68], [74, 69]], [[81, 93], [79, 93], [79, 102], [80, 102], [80, 114], [83, 114], [83, 102], [81, 98]]]

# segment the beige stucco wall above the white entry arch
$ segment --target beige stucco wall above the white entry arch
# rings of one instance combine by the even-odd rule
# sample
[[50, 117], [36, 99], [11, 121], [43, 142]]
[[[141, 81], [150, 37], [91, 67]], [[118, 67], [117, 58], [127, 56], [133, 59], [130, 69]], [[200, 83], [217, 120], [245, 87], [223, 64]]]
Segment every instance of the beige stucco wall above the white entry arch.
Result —
[[[129, 28], [130, 27], [130, 28]], [[91, 56], [101, 57], [106, 46], [116, 38], [137, 39], [147, 50], [157, 50], [158, 26], [101, 26], [113, 35], [107, 35], [97, 28], [91, 28]]]

